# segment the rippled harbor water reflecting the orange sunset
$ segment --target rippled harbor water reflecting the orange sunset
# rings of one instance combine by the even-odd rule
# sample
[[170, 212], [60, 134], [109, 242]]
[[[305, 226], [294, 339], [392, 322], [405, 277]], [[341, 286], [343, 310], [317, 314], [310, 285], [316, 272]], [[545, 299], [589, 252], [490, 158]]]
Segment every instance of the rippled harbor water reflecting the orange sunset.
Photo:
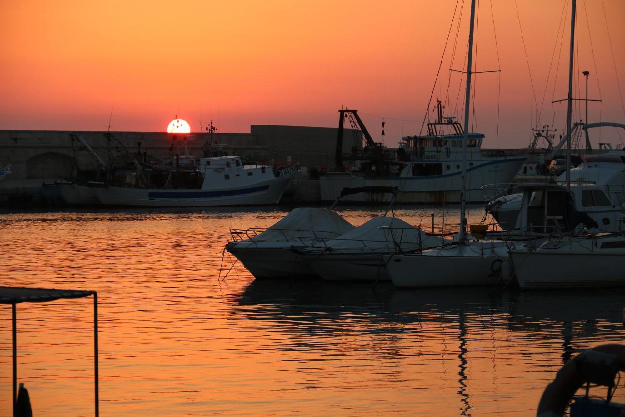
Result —
[[[440, 208], [397, 216], [429, 230], [432, 212], [439, 231]], [[0, 214], [0, 285], [98, 291], [104, 416], [526, 416], [564, 361], [625, 335], [621, 289], [395, 291], [254, 281], [238, 264], [217, 281], [229, 228], [286, 213]], [[359, 225], [379, 210], [341, 214]], [[482, 214], [471, 209], [469, 222]], [[457, 229], [456, 211], [447, 220]], [[36, 415], [93, 414], [92, 314], [91, 298], [17, 306], [18, 381]], [[0, 317], [0, 415], [9, 415], [11, 307]]]

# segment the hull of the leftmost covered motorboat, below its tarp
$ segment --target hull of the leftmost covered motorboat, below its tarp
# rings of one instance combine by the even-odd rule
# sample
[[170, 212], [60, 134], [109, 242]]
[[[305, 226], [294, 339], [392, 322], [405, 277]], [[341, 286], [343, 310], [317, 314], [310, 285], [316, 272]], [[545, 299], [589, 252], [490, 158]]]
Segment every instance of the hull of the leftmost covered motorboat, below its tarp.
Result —
[[226, 245], [226, 250], [234, 255], [255, 278], [318, 277], [309, 263], [302, 262], [291, 247], [259, 248], [254, 244], [237, 248], [237, 244]]

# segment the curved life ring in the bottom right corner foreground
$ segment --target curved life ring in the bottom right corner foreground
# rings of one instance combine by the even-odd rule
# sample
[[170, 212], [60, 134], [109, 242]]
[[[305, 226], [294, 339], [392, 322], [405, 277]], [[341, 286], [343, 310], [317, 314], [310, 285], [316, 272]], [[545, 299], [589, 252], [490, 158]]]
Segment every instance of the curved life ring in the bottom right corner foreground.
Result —
[[618, 370], [625, 371], [625, 345], [603, 344], [582, 352], [575, 358], [568, 361], [559, 371], [553, 382], [547, 385], [542, 392], [541, 401], [536, 410], [537, 417], [552, 417], [564, 415], [566, 406], [571, 401], [577, 389], [581, 388], [586, 379], [579, 371], [578, 363], [581, 359], [588, 362], [597, 363], [601, 368], [601, 363], [606, 359], [612, 361], [616, 359]]

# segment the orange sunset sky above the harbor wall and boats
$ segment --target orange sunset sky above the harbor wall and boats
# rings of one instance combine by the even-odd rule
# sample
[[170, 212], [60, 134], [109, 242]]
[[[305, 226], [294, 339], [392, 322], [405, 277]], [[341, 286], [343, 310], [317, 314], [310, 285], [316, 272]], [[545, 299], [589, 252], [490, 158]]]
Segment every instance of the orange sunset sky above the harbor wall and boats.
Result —
[[[113, 108], [112, 130], [164, 131], [178, 95], [178, 116], [192, 131], [211, 118], [219, 132], [336, 126], [347, 106], [366, 113], [375, 139], [381, 119], [370, 115], [386, 116], [386, 143], [394, 145], [402, 130], [419, 133], [456, 4], [434, 99], [451, 97], [445, 113], [461, 117], [453, 109], [462, 107], [464, 86], [449, 68], [462, 6], [453, 67], [466, 65], [469, 0], [3, 0], [0, 128], [104, 130]], [[569, 13], [568, 0], [478, 1], [476, 69], [502, 71], [500, 93], [497, 73], [475, 82], [471, 130], [486, 133], [485, 147], [526, 147], [536, 108], [541, 123], [551, 124], [555, 111], [554, 125], [564, 129], [566, 103], [551, 101], [566, 98]], [[589, 120], [625, 123], [625, 2], [578, 0], [577, 16], [575, 86], [581, 79], [583, 96], [588, 70], [589, 95], [603, 100], [590, 105]], [[602, 135], [621, 143], [614, 131]]]

